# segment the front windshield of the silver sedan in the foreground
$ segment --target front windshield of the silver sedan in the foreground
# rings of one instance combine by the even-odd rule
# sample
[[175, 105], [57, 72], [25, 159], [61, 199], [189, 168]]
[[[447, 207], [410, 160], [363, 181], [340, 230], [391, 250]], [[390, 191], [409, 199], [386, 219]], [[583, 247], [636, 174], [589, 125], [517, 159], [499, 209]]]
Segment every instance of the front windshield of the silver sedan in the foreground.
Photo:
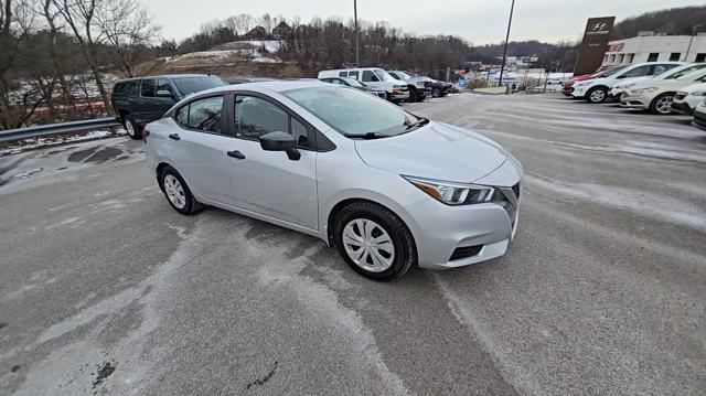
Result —
[[355, 89], [315, 87], [282, 94], [345, 136], [395, 136], [420, 121], [395, 105]]

